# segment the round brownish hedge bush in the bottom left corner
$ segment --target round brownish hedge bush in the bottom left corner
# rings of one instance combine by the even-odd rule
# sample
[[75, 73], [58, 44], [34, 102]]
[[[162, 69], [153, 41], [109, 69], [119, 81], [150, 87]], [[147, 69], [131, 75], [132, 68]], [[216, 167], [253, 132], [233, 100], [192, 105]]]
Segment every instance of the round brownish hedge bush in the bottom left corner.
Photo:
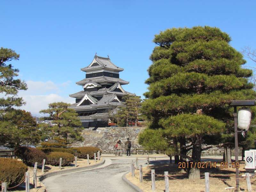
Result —
[[25, 178], [28, 167], [21, 161], [0, 158], [0, 184], [7, 182], [8, 187], [18, 185]]

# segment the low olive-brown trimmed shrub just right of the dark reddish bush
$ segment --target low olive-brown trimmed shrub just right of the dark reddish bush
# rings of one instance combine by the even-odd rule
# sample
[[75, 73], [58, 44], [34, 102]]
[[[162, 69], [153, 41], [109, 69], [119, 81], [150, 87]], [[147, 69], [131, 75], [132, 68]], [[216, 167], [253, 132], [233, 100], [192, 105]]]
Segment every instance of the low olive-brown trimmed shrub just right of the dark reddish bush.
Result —
[[46, 164], [59, 165], [60, 164], [60, 157], [62, 158], [61, 166], [65, 166], [65, 165], [74, 161], [74, 155], [71, 154], [71, 153], [50, 152], [47, 155]]

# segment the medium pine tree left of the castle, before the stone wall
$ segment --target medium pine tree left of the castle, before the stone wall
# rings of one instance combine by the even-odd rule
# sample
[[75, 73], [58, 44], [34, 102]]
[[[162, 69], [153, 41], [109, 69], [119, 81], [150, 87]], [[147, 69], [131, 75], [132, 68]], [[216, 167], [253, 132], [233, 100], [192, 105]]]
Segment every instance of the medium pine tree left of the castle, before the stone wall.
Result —
[[41, 124], [42, 130], [50, 132], [49, 134], [52, 136], [65, 139], [66, 144], [83, 141], [82, 123], [77, 118], [76, 111], [69, 106], [68, 103], [55, 102], [50, 103], [48, 109], [40, 111], [40, 113], [49, 114], [42, 119], [52, 121], [52, 126]]

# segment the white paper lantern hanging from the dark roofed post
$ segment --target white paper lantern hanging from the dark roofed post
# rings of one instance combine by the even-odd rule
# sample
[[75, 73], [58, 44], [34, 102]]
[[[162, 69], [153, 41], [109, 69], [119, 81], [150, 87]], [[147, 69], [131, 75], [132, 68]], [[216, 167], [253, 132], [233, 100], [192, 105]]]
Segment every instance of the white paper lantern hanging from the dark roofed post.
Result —
[[237, 113], [237, 127], [245, 131], [248, 131], [251, 123], [251, 109], [241, 108]]

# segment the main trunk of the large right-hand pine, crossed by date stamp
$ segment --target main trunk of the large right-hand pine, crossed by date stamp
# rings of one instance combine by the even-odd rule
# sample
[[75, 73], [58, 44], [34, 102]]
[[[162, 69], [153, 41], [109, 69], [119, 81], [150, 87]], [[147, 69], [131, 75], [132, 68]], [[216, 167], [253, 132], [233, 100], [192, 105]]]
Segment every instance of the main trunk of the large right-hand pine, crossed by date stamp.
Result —
[[[202, 136], [196, 134], [193, 139], [192, 159], [194, 163], [201, 161]], [[189, 170], [189, 179], [200, 179], [200, 169], [192, 168]]]

